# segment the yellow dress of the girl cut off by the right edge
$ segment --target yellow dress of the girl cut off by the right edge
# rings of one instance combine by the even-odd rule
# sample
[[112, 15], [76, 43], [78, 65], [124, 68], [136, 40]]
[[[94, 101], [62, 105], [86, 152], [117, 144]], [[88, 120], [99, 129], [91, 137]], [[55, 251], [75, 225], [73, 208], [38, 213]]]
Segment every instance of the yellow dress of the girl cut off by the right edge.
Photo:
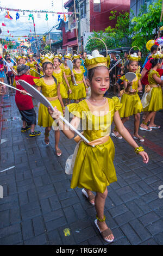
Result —
[[[153, 78], [153, 74], [156, 74], [159, 78], [160, 75], [157, 71], [151, 69], [148, 73], [148, 82], [149, 84], [157, 84]], [[154, 112], [159, 111], [163, 108], [163, 96], [162, 96], [162, 89], [160, 86], [153, 87], [151, 91], [151, 99], [149, 105], [144, 108], [144, 111]]]

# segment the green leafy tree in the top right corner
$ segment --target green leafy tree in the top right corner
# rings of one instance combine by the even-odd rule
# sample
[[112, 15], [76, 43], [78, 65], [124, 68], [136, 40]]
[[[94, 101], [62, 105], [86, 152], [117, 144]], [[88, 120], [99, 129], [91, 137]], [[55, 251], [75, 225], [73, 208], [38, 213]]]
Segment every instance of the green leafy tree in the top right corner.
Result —
[[160, 22], [161, 4], [162, 0], [158, 0], [149, 5], [148, 9], [142, 7], [139, 15], [131, 20], [134, 27], [133, 46], [145, 49], [148, 40], [158, 37], [159, 27], [163, 25], [163, 22]]

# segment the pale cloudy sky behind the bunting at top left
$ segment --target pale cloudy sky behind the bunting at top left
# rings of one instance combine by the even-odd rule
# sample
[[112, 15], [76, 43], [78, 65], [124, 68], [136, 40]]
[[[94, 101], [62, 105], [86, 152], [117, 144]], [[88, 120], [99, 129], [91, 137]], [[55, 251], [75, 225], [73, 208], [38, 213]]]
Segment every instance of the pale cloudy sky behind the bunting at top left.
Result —
[[[53, 7], [52, 7], [53, 2]], [[13, 8], [13, 9], [22, 9], [22, 10], [47, 10], [47, 11], [56, 11], [56, 12], [66, 12], [67, 10], [62, 8], [62, 3], [64, 4], [67, 0], [0, 0], [0, 6], [5, 8]], [[0, 27], [2, 28], [2, 35], [28, 35], [30, 33], [30, 29], [32, 33], [34, 33], [33, 21], [32, 18], [28, 20], [29, 14], [25, 12], [23, 15], [22, 12], [18, 13], [20, 15], [20, 19], [16, 20], [16, 11], [9, 11], [9, 14], [12, 16], [13, 20], [9, 20], [5, 18], [6, 15], [5, 10], [1, 11], [0, 9]], [[35, 29], [36, 34], [45, 33], [49, 29], [51, 29], [58, 22], [58, 14], [48, 14], [48, 24], [46, 19], [46, 13], [40, 13], [41, 18], [37, 17], [37, 13], [33, 13], [34, 21], [35, 21]], [[62, 15], [61, 15], [62, 17]], [[6, 25], [6, 27], [2, 27], [2, 22]], [[53, 29], [52, 32], [55, 32]]]

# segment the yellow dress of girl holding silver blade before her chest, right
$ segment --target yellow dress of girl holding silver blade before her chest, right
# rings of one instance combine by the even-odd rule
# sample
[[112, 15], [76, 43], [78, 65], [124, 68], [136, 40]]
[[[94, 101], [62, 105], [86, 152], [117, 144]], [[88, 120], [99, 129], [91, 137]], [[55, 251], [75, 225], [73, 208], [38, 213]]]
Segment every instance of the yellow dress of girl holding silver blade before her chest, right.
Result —
[[[133, 81], [132, 89], [137, 90], [138, 82], [141, 78], [140, 74], [136, 74], [136, 78]], [[122, 80], [128, 81], [125, 76], [121, 77]], [[126, 94], [123, 93], [121, 97], [122, 107], [119, 111], [120, 117], [130, 117], [133, 114], [141, 113], [143, 111], [142, 103], [140, 97], [137, 93]]]

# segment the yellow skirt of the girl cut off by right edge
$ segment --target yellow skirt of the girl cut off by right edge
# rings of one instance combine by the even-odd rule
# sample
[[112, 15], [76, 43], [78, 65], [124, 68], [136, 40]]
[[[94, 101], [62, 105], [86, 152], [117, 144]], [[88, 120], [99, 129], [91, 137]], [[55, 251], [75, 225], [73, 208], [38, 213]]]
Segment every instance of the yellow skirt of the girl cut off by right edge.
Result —
[[159, 111], [163, 108], [163, 96], [161, 87], [153, 87], [151, 92], [151, 99], [149, 105], [143, 111]]

